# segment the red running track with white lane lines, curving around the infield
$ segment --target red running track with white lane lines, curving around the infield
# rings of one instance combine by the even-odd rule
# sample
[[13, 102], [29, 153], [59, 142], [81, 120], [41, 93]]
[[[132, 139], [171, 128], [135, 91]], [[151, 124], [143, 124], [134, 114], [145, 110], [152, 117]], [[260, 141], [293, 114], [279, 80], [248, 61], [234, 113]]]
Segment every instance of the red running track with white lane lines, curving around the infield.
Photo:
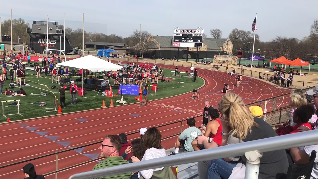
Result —
[[[161, 68], [174, 69], [175, 66], [161, 65]], [[180, 71], [190, 71], [189, 67], [178, 67]], [[171, 75], [166, 75], [170, 77]], [[198, 69], [198, 76], [204, 78], [206, 86], [200, 89], [200, 98], [190, 100], [192, 89], [199, 86], [190, 86], [190, 93], [166, 99], [150, 101], [148, 106], [138, 107], [139, 104], [129, 104], [125, 107], [115, 106], [111, 108], [83, 111], [72, 114], [63, 114], [56, 117], [44, 117], [27, 121], [12, 122], [0, 125], [0, 166], [34, 158], [36, 156], [50, 154], [56, 151], [78, 147], [88, 143], [102, 140], [105, 135], [129, 133], [138, 131], [141, 127], [158, 126], [190, 118], [202, 114], [204, 101], [209, 100], [211, 106], [217, 108], [217, 104], [223, 96], [220, 94], [224, 83], [230, 85], [231, 92], [244, 99], [245, 104], [267, 99], [290, 92], [289, 89], [276, 88], [262, 80], [243, 76], [240, 87], [234, 87], [235, 78], [225, 72]], [[184, 78], [184, 77], [183, 77]], [[195, 83], [193, 83], [195, 84]], [[191, 84], [192, 85], [192, 84]], [[158, 83], [160, 86], [160, 83]], [[186, 84], [180, 84], [186, 86]], [[159, 87], [160, 89], [160, 87]], [[286, 104], [289, 99], [278, 98], [277, 104]], [[276, 108], [280, 105], [276, 104]], [[268, 111], [271, 110], [267, 105]], [[135, 114], [135, 115], [131, 115]], [[138, 115], [136, 115], [138, 114]], [[84, 121], [84, 122], [83, 122]], [[202, 123], [197, 118], [197, 126]], [[183, 123], [186, 128], [186, 122]], [[180, 123], [159, 128], [162, 137], [176, 134], [180, 130]], [[138, 138], [139, 135], [128, 136], [129, 140]], [[174, 147], [176, 137], [163, 140], [163, 146], [168, 149]], [[99, 157], [100, 145], [81, 148], [77, 151], [69, 151], [59, 154], [59, 169], [72, 166], [81, 162]], [[38, 174], [45, 174], [55, 170], [55, 155], [32, 161]], [[58, 178], [68, 178], [78, 172], [89, 171], [98, 161], [91, 162], [76, 168], [60, 172]], [[0, 169], [0, 178], [23, 177], [22, 167], [19, 164]], [[55, 178], [54, 175], [45, 178]]]

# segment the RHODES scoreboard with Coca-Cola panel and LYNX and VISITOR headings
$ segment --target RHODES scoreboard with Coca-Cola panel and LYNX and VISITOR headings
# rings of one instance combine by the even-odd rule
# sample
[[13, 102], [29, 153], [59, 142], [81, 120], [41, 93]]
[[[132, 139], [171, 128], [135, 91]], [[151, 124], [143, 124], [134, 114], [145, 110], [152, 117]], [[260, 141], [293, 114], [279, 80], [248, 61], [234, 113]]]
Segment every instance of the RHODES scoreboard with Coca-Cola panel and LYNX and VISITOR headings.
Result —
[[179, 29], [173, 32], [173, 47], [202, 47], [203, 29]]

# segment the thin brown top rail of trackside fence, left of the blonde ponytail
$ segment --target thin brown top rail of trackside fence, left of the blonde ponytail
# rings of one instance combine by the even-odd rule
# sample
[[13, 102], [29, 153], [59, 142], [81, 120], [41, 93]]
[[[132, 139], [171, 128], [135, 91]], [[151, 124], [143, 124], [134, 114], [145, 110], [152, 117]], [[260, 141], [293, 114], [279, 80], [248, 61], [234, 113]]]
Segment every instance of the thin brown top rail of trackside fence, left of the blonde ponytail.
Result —
[[[203, 114], [194, 116], [194, 117], [192, 117], [192, 118], [197, 118], [197, 117], [200, 117], [200, 116], [203, 116]], [[183, 122], [183, 121], [186, 121], [186, 120], [188, 120], [188, 118], [184, 118], [184, 119], [181, 119], [181, 120], [178, 120], [178, 121], [175, 121], [175, 122], [171, 122], [171, 123], [167, 123], [167, 124], [163, 124], [163, 125], [158, 125], [158, 126], [156, 126], [156, 128], [164, 127], [164, 126], [167, 126], [167, 125], [176, 124], [176, 123]], [[139, 132], [139, 131], [130, 132], [130, 133], [126, 134], [126, 135], [129, 136], [129, 135], [136, 134], [136, 133], [138, 133], [138, 132]], [[17, 165], [17, 164], [20, 164], [20, 163], [24, 163], [24, 162], [28, 162], [28, 161], [32, 161], [32, 160], [36, 160], [36, 159], [40, 159], [40, 158], [44, 158], [44, 157], [48, 157], [48, 156], [60, 154], [60, 153], [63, 153], [63, 152], [68, 152], [68, 151], [75, 150], [75, 149], [79, 149], [79, 148], [82, 148], [82, 147], [87, 147], [87, 146], [95, 145], [95, 144], [98, 144], [98, 143], [101, 143], [101, 142], [103, 142], [103, 140], [100, 140], [100, 141], [97, 141], [97, 142], [93, 142], [93, 143], [89, 143], [89, 144], [86, 144], [86, 145], [83, 145], [83, 146], [79, 146], [79, 147], [74, 147], [74, 148], [69, 148], [69, 149], [66, 149], [66, 150], [61, 150], [61, 151], [54, 152], [54, 153], [51, 153], [51, 154], [41, 155], [41, 156], [34, 157], [34, 158], [31, 158], [31, 159], [26, 159], [26, 160], [23, 160], [23, 161], [18, 161], [18, 162], [10, 163], [10, 164], [7, 164], [7, 165], [0, 166], [0, 168], [10, 167], [10, 166], [12, 166], [12, 165]]]

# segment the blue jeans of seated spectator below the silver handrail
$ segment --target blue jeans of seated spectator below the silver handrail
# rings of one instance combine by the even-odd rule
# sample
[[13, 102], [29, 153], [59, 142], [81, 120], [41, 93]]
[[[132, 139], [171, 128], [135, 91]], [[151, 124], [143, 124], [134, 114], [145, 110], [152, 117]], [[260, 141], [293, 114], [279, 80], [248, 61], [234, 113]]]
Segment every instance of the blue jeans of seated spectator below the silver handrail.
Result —
[[206, 179], [228, 179], [235, 166], [235, 162], [227, 162], [224, 159], [211, 160]]

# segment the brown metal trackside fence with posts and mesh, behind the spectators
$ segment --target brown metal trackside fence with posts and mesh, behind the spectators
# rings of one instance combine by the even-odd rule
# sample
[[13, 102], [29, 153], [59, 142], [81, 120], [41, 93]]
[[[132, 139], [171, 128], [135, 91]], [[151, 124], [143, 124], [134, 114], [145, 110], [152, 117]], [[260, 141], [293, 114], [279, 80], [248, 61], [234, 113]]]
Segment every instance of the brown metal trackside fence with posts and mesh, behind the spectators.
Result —
[[[312, 89], [313, 87], [310, 87], [310, 88], [307, 88], [307, 89], [303, 89], [303, 91], [306, 91], [306, 90], [309, 90], [309, 89]], [[277, 96], [277, 97], [273, 97], [273, 98], [269, 98], [269, 99], [265, 99], [265, 100], [261, 100], [261, 101], [257, 101], [257, 102], [254, 102], [254, 103], [251, 103], [251, 104], [246, 104], [246, 107], [248, 108], [249, 106], [251, 105], [258, 105], [260, 104], [261, 106], [264, 106], [263, 104], [268, 104], [268, 105], [272, 105], [273, 107], [273, 110], [272, 111], [264, 111], [264, 120], [270, 124], [270, 125], [275, 125], [277, 123], [281, 123], [281, 121], [284, 121], [284, 120], [287, 120], [289, 118], [289, 116], [287, 117], [286, 114], [288, 114], [288, 112], [284, 111], [282, 112], [283, 110], [286, 110], [286, 109], [291, 109], [291, 107], [288, 107], [288, 104], [284, 105], [284, 106], [281, 106], [280, 109], [278, 110], [275, 110], [275, 106], [276, 106], [276, 100], [278, 98], [282, 98], [282, 97], [289, 97], [290, 93], [287, 93], [287, 94], [284, 94], [284, 95], [280, 95], [280, 96]], [[277, 102], [277, 104], [279, 104]], [[290, 114], [290, 111], [289, 111], [289, 114]], [[202, 118], [202, 114], [200, 115], [197, 115], [193, 118]], [[281, 118], [284, 118], [284, 120], [281, 120]], [[285, 119], [287, 118], [287, 119]], [[183, 131], [183, 125], [186, 125], [184, 124], [183, 122], [186, 121], [188, 118], [186, 119], [181, 119], [181, 120], [178, 120], [178, 121], [175, 121], [175, 122], [171, 122], [171, 123], [168, 123], [168, 124], [164, 124], [164, 125], [159, 125], [159, 126], [156, 126], [157, 128], [160, 128], [161, 127], [164, 127], [164, 126], [167, 126], [167, 125], [175, 125], [177, 123], [180, 123], [179, 127], [180, 127], [180, 131], [178, 133], [175, 133], [173, 135], [170, 135], [170, 136], [167, 136], [165, 138], [163, 138], [162, 140], [164, 139], [168, 139], [170, 137], [174, 137], [174, 136], [177, 136], [177, 135], [180, 135], [181, 132]], [[136, 133], [139, 133], [139, 131], [136, 131], [136, 132], [131, 132], [131, 133], [128, 133], [127, 136], [131, 136], [133, 134], [136, 134]], [[45, 155], [42, 155], [42, 156], [38, 156], [38, 157], [34, 157], [34, 158], [31, 158], [31, 159], [26, 159], [26, 160], [23, 160], [23, 161], [18, 161], [18, 162], [14, 162], [14, 163], [10, 163], [10, 164], [7, 164], [7, 165], [3, 165], [3, 166], [0, 166], [0, 169], [1, 168], [6, 168], [6, 167], [10, 167], [10, 166], [13, 166], [13, 165], [18, 165], [18, 164], [21, 164], [21, 163], [24, 163], [24, 162], [28, 162], [28, 161], [33, 161], [33, 160], [37, 160], [37, 159], [41, 159], [41, 158], [45, 158], [45, 157], [50, 157], [52, 155], [55, 155], [55, 171], [52, 171], [52, 172], [49, 172], [49, 173], [46, 173], [44, 174], [45, 176], [47, 175], [52, 175], [55, 173], [55, 178], [57, 178], [57, 174], [58, 172], [61, 172], [61, 171], [65, 171], [67, 169], [70, 169], [70, 168], [74, 168], [74, 167], [77, 167], [77, 166], [80, 166], [80, 165], [83, 165], [83, 164], [86, 164], [86, 163], [90, 163], [92, 161], [96, 161], [98, 159], [102, 159], [101, 157], [100, 158], [97, 158], [97, 159], [93, 159], [93, 160], [89, 160], [89, 161], [85, 161], [85, 162], [82, 162], [82, 163], [79, 163], [79, 164], [76, 164], [76, 165], [72, 165], [72, 166], [68, 166], [66, 168], [58, 168], [58, 160], [61, 160], [59, 159], [58, 155], [61, 154], [61, 153], [65, 153], [65, 152], [69, 152], [69, 151], [73, 151], [73, 150], [76, 150], [76, 149], [79, 149], [79, 148], [83, 148], [83, 147], [88, 147], [88, 146], [93, 146], [93, 145], [96, 145], [96, 144], [100, 144], [103, 140], [100, 140], [100, 141], [97, 141], [97, 142], [93, 142], [93, 143], [89, 143], [89, 144], [86, 144], [86, 145], [83, 145], [83, 146], [79, 146], [79, 147], [74, 147], [74, 148], [69, 148], [69, 149], [66, 149], [66, 150], [62, 150], [62, 151], [58, 151], [58, 152], [55, 152], [55, 153], [51, 153], [51, 154], [45, 154]], [[98, 147], [97, 147], [98, 148]]]

